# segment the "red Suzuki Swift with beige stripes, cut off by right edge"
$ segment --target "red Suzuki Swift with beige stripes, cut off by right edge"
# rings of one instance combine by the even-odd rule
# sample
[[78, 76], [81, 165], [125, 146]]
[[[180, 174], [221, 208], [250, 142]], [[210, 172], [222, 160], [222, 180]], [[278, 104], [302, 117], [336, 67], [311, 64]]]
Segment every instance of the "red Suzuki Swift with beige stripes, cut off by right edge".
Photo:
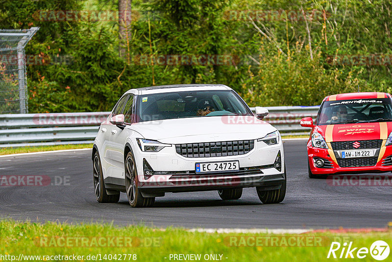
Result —
[[309, 177], [392, 171], [392, 97], [364, 92], [331, 95], [322, 101], [307, 144]]

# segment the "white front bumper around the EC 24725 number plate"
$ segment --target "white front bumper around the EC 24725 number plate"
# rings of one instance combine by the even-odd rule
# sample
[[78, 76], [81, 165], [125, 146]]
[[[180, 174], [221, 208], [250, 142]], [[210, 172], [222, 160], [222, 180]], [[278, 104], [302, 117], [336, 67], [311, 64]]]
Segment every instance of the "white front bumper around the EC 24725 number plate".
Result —
[[[267, 145], [254, 140], [254, 147], [244, 155], [225, 157], [184, 157], [175, 145], [156, 153], [134, 152], [139, 188], [147, 195], [157, 192], [203, 191], [224, 188], [263, 186], [280, 188], [286, 180], [283, 145]], [[280, 154], [280, 170], [274, 167]], [[238, 160], [239, 171], [196, 173], [196, 163]], [[148, 163], [148, 165], [146, 165]], [[150, 171], [147, 172], [146, 170]]]

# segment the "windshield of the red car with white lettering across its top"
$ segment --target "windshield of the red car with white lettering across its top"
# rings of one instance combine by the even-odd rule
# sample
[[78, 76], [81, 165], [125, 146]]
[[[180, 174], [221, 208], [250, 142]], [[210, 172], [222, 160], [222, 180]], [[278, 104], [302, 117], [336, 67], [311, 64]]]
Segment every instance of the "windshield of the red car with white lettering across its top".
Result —
[[316, 125], [392, 121], [389, 98], [326, 101], [321, 105]]

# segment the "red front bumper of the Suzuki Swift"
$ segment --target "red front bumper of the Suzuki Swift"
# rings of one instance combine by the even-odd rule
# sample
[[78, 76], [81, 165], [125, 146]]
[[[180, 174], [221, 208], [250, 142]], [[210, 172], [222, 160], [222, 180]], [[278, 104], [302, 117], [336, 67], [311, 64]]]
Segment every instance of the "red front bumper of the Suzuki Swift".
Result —
[[[382, 165], [385, 158], [392, 156], [392, 146], [385, 147], [385, 152], [382, 157], [378, 157], [377, 163], [374, 166], [360, 166], [360, 167], [340, 167], [337, 162], [330, 156], [331, 150], [312, 147], [311, 143], [308, 143], [308, 160], [310, 171], [313, 174], [336, 174], [336, 173], [381, 173], [391, 172], [391, 165]], [[382, 152], [382, 151], [381, 151]], [[380, 153], [381, 154], [381, 153]], [[315, 165], [314, 158], [322, 158], [328, 160], [330, 164], [324, 168], [319, 168]], [[336, 159], [336, 158], [335, 158]], [[328, 163], [329, 163], [328, 162]]]

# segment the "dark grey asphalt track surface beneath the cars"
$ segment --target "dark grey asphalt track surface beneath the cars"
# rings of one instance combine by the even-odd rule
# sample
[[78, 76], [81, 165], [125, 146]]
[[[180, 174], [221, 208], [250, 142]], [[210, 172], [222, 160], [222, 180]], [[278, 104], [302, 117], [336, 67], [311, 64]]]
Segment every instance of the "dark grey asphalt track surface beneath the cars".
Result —
[[[0, 175], [69, 177], [67, 185], [0, 186], [0, 217], [44, 222], [112, 222], [185, 228], [380, 228], [392, 221], [391, 186], [330, 186], [309, 179], [306, 141], [286, 140], [287, 193], [281, 204], [263, 205], [255, 188], [240, 200], [216, 191], [167, 193], [152, 208], [132, 209], [124, 193], [117, 204], [94, 195], [91, 151], [0, 158]], [[57, 183], [59, 180], [57, 181]]]

